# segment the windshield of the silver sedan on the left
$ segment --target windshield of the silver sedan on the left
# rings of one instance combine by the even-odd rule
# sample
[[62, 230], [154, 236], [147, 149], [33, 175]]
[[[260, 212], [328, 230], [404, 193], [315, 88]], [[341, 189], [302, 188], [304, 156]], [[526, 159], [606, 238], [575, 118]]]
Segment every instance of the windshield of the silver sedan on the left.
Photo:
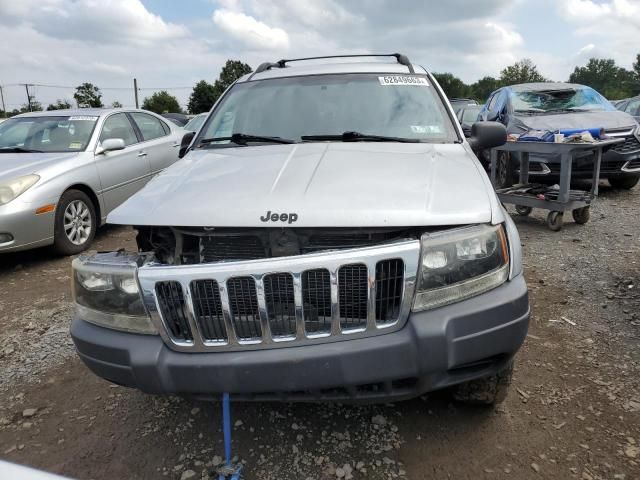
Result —
[[93, 115], [10, 118], [0, 123], [0, 152], [81, 152], [87, 148], [97, 120]]

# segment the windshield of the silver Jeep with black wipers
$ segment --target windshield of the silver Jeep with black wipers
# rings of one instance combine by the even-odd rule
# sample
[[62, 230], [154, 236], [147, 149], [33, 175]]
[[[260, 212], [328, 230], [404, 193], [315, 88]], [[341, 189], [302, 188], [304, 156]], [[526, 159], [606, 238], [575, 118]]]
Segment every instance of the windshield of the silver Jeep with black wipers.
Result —
[[[299, 142], [303, 136], [344, 132], [425, 142], [457, 140], [426, 76], [374, 74], [239, 83], [209, 117], [200, 140], [242, 133]], [[220, 143], [206, 146], [219, 147]]]

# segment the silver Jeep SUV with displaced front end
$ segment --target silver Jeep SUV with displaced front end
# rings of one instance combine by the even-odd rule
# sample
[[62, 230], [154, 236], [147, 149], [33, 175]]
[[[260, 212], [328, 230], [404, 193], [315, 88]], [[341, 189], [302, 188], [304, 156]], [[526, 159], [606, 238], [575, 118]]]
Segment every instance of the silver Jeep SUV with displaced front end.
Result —
[[433, 76], [400, 54], [260, 65], [73, 262], [78, 354], [150, 393], [492, 404], [529, 322], [517, 230]]

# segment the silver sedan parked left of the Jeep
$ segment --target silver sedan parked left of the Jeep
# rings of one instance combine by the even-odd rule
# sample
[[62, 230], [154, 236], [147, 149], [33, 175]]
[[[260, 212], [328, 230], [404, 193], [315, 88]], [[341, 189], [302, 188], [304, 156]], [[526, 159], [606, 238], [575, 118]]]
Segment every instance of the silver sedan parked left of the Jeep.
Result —
[[183, 134], [146, 110], [54, 110], [3, 122], [0, 252], [85, 250], [109, 212], [178, 159]]

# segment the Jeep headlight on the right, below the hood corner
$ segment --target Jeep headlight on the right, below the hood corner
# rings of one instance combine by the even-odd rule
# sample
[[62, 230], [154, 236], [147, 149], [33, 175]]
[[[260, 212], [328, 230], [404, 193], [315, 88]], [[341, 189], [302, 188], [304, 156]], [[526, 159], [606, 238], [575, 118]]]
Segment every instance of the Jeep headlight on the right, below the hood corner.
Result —
[[428, 310], [479, 295], [509, 276], [502, 225], [425, 233], [413, 310]]

